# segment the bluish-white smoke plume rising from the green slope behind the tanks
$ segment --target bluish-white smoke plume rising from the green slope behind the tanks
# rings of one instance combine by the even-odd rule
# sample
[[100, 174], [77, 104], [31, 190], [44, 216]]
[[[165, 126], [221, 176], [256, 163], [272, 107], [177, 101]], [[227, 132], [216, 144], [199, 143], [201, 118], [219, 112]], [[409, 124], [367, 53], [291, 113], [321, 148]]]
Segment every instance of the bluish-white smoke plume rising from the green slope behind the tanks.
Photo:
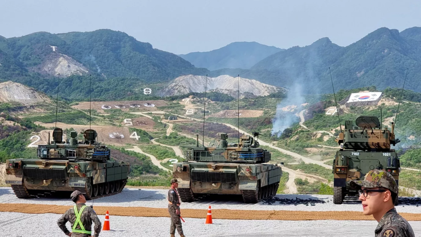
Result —
[[[282, 102], [276, 106], [276, 115], [272, 119], [272, 136], [282, 135], [285, 128], [291, 127], [292, 124], [299, 121], [299, 117], [295, 115], [301, 104], [305, 102], [305, 98], [302, 93], [301, 85], [295, 84], [287, 93], [287, 98], [283, 99]], [[287, 106], [296, 106], [294, 112], [284, 111], [283, 108]]]

